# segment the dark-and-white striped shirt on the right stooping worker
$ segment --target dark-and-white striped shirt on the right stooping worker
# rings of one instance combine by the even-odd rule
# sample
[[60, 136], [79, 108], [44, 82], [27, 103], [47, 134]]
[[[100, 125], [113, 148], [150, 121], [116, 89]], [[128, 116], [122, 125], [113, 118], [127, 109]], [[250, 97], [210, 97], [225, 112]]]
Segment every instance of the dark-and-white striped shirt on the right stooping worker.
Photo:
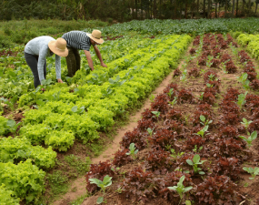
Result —
[[90, 50], [90, 37], [86, 36], [84, 31], [70, 31], [62, 36], [68, 47], [74, 47], [78, 50]]

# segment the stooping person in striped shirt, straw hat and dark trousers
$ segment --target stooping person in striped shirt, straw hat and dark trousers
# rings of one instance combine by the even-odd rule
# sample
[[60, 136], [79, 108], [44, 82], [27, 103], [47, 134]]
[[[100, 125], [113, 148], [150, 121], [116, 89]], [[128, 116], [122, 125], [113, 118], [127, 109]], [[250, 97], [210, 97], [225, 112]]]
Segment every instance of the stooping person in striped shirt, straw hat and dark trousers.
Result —
[[80, 69], [80, 55], [78, 50], [84, 50], [85, 56], [91, 70], [94, 70], [93, 60], [90, 54], [90, 46], [94, 46], [95, 54], [99, 58], [101, 66], [107, 67], [102, 59], [101, 53], [96, 45], [104, 43], [101, 38], [101, 31], [94, 30], [92, 34], [84, 31], [70, 31], [62, 36], [67, 42], [68, 56], [65, 57], [68, 69], [68, 76], [74, 77], [75, 72]]

